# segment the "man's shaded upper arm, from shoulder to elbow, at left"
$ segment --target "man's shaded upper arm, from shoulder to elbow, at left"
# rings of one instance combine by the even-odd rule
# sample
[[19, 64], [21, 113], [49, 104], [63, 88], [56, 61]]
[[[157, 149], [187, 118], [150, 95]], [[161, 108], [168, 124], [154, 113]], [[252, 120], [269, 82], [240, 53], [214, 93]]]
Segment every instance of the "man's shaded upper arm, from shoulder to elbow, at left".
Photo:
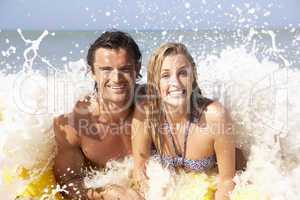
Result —
[[84, 187], [85, 159], [76, 130], [68, 124], [66, 116], [54, 119], [53, 125], [58, 147], [54, 174], [57, 182], [67, 191], [63, 196], [72, 200], [96, 199], [97, 194], [88, 192]]

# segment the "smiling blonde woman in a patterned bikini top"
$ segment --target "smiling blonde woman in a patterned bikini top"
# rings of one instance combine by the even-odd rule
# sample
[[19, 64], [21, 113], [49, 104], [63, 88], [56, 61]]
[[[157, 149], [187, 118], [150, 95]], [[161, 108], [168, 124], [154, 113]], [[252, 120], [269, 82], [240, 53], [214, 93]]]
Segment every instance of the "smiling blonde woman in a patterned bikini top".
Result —
[[132, 121], [134, 177], [145, 180], [145, 163], [154, 157], [163, 165], [193, 172], [217, 166], [216, 200], [229, 199], [234, 188], [235, 143], [230, 116], [217, 101], [202, 96], [195, 62], [180, 43], [158, 48], [148, 65], [147, 100]]

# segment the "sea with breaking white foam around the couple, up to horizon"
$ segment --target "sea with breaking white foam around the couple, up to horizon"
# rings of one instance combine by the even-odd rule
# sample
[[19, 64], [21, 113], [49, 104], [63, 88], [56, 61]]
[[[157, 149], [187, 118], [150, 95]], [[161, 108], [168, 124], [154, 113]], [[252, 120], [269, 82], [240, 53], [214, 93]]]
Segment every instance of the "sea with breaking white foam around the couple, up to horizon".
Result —
[[[53, 117], [70, 112], [93, 90], [85, 57], [102, 31], [0, 32], [0, 166], [33, 178], [53, 165], [56, 148]], [[300, 30], [237, 29], [203, 31], [132, 31], [143, 54], [143, 78], [151, 53], [165, 42], [182, 42], [193, 55], [203, 93], [222, 102], [234, 121], [237, 144], [248, 158], [237, 187], [255, 184], [271, 199], [298, 199], [300, 180]], [[42, 166], [42, 167], [40, 167]], [[131, 158], [110, 163], [91, 186], [128, 184]], [[126, 172], [126, 173], [124, 173]], [[175, 187], [171, 174], [148, 167], [148, 199], [167, 199]], [[0, 172], [2, 173], [2, 172]], [[152, 177], [152, 179], [151, 179]], [[2, 183], [3, 184], [3, 183]], [[0, 187], [13, 199], [28, 181], [14, 177]], [[156, 196], [155, 196], [156, 195]], [[159, 197], [157, 196], [159, 195]]]

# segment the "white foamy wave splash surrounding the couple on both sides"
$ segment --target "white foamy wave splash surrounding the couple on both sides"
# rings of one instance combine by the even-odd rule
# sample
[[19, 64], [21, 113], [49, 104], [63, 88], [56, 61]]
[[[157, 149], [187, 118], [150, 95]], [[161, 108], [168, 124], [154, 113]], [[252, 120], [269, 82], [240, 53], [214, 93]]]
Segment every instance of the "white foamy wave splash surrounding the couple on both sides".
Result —
[[[248, 35], [251, 44], [257, 34], [254, 32]], [[264, 33], [272, 40], [269, 52], [275, 52], [279, 60], [284, 59], [280, 57], [282, 51], [276, 46], [275, 35]], [[25, 51], [33, 51], [35, 56], [28, 57], [24, 52], [28, 63], [25, 71], [0, 73], [1, 166], [9, 166], [15, 174], [21, 167], [31, 169], [32, 179], [53, 164], [53, 117], [70, 112], [74, 102], [91, 91], [93, 85], [86, 76], [83, 60], [69, 62], [62, 71], [50, 66], [47, 77], [30, 70], [46, 35], [44, 32], [38, 40], [30, 40], [32, 46]], [[246, 45], [249, 44], [228, 47], [218, 56], [197, 59], [199, 82], [207, 96], [218, 98], [230, 110], [237, 143], [248, 155], [247, 170], [235, 178], [236, 189], [251, 183], [272, 200], [296, 200], [300, 180], [300, 72], [290, 69], [289, 61], [283, 62], [285, 67], [268, 57], [259, 61], [255, 48], [249, 52]], [[96, 172], [93, 179], [86, 179], [86, 184], [128, 186], [131, 170], [130, 158], [114, 161], [106, 170]], [[154, 161], [149, 162], [147, 174], [150, 186], [147, 199], [169, 199], [176, 187], [186, 183], [185, 176], [162, 169]], [[0, 187], [0, 196], [14, 199], [31, 180], [14, 177], [9, 187]]]

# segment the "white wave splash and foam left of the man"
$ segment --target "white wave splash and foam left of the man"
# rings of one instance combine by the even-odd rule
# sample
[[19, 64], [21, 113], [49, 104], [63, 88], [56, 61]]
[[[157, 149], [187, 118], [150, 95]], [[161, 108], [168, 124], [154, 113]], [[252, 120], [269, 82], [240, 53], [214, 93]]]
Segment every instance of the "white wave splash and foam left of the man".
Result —
[[[37, 40], [27, 40], [21, 30], [18, 32], [31, 46], [24, 51], [23, 70], [16, 74], [0, 72], [0, 185], [4, 184], [4, 168], [12, 175], [11, 183], [0, 187], [1, 199], [15, 199], [26, 185], [53, 166], [56, 155], [53, 118], [70, 112], [75, 101], [92, 88], [83, 60], [69, 62], [62, 72], [38, 55], [47, 31]], [[47, 64], [47, 76], [32, 70], [37, 56]], [[30, 169], [30, 179], [18, 177], [22, 168]], [[55, 187], [51, 194], [41, 198], [54, 199], [55, 193], [62, 190]]]

